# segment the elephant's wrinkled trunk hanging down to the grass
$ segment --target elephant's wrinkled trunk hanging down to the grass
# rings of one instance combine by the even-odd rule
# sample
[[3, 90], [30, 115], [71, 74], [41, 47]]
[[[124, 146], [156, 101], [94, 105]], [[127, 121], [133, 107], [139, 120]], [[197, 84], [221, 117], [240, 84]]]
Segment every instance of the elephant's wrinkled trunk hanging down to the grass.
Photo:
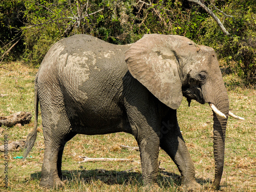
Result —
[[[220, 101], [216, 103], [216, 107], [226, 117], [229, 112], [228, 95], [222, 92], [219, 95]], [[215, 158], [215, 179], [212, 186], [220, 185], [224, 166], [224, 151], [225, 151], [225, 135], [226, 135], [227, 118], [221, 117], [214, 112], [214, 158]]]

